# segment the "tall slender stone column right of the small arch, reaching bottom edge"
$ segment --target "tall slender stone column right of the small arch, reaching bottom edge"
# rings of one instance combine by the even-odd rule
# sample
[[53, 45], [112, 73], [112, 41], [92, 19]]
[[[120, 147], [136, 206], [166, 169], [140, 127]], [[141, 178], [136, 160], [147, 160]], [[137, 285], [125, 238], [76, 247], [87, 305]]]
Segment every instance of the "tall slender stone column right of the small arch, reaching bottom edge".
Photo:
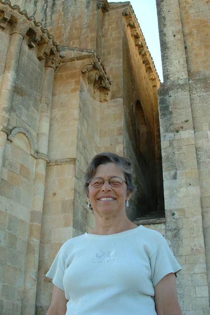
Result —
[[45, 190], [46, 164], [48, 160], [48, 135], [50, 126], [50, 108], [52, 103], [54, 73], [54, 57], [49, 57], [45, 64], [45, 76], [40, 105], [37, 159], [35, 165], [32, 210], [30, 214], [30, 233], [26, 256], [24, 297], [21, 313], [22, 315], [34, 315], [35, 312], [39, 244]]

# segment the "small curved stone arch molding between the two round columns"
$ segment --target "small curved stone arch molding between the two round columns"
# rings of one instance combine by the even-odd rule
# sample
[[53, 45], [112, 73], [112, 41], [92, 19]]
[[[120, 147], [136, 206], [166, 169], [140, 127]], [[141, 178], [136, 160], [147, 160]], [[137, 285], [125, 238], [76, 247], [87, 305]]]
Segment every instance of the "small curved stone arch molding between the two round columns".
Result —
[[16, 139], [18, 140], [17, 144], [25, 151], [28, 151], [32, 156], [35, 156], [35, 144], [34, 144], [34, 141], [33, 141], [33, 138], [30, 134], [30, 132], [25, 129], [25, 128], [22, 128], [22, 127], [14, 127], [12, 128], [12, 130], [10, 131], [10, 134], [9, 136], [7, 137], [7, 139], [11, 142], [14, 141], [15, 139], [15, 136], [18, 134], [18, 133], [22, 133], [25, 135], [25, 137], [27, 138], [28, 140], [28, 144], [29, 144], [29, 150], [27, 150], [27, 143], [24, 144], [24, 141], [21, 141], [21, 138], [19, 139]]

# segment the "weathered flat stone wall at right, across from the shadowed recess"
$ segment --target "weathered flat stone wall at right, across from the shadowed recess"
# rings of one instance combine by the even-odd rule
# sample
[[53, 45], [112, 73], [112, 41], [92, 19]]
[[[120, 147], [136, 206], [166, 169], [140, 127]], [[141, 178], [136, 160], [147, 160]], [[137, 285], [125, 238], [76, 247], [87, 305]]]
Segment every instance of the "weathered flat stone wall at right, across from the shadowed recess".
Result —
[[184, 314], [206, 315], [210, 10], [207, 1], [166, 0], [158, 0], [157, 9], [164, 72], [159, 110], [166, 236], [183, 268], [178, 280]]

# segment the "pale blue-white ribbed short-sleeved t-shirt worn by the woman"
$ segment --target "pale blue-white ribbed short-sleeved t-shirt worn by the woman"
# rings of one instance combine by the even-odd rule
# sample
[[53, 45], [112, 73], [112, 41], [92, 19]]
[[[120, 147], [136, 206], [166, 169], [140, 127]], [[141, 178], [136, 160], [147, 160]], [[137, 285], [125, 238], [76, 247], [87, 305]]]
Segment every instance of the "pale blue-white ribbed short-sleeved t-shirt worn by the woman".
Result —
[[64, 290], [66, 315], [156, 315], [154, 286], [180, 269], [164, 237], [140, 225], [68, 240], [46, 277]]

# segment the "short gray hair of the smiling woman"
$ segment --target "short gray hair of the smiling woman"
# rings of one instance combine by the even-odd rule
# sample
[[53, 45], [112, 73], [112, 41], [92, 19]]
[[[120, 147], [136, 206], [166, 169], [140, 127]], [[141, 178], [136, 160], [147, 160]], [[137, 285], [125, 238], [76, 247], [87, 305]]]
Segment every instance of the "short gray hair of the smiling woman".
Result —
[[101, 164], [115, 163], [123, 172], [128, 192], [135, 192], [134, 173], [130, 160], [120, 157], [115, 153], [102, 152], [92, 158], [85, 173], [85, 191], [88, 190], [89, 183], [96, 173], [96, 168]]

